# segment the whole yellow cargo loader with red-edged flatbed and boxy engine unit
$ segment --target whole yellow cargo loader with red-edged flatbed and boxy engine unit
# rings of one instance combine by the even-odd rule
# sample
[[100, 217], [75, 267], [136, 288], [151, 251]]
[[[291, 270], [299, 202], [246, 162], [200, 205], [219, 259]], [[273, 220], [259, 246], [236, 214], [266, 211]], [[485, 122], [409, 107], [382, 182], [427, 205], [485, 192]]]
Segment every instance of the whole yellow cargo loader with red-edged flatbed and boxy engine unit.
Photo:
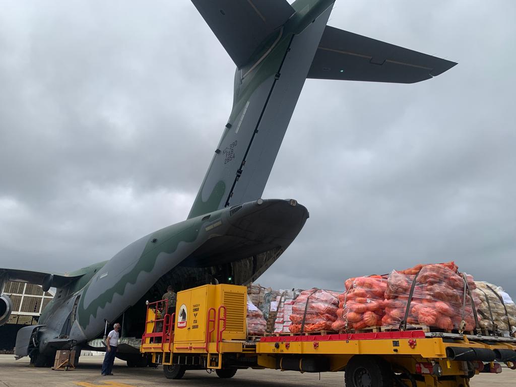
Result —
[[[466, 387], [480, 372], [516, 368], [510, 337], [421, 330], [247, 336], [247, 288], [204, 285], [148, 304], [140, 351], [180, 379], [188, 369], [213, 369], [231, 378], [238, 368], [299, 372], [345, 371], [347, 387]], [[509, 371], [510, 372], [510, 371]]]

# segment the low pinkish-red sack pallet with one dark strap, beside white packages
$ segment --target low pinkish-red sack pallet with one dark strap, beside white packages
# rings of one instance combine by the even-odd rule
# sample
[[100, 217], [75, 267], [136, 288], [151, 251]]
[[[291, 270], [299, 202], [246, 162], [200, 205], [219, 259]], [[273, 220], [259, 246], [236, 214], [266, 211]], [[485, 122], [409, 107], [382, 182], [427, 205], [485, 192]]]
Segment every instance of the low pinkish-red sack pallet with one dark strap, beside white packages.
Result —
[[289, 331], [331, 331], [331, 325], [337, 319], [337, 309], [338, 293], [317, 288], [303, 291], [292, 305]]

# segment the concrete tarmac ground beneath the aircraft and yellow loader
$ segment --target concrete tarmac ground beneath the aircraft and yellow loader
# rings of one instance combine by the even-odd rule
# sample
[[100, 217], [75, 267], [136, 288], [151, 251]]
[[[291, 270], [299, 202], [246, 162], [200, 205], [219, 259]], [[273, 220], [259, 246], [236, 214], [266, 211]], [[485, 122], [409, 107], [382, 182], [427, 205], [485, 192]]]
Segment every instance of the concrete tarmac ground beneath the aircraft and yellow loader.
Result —
[[[0, 387], [163, 387], [182, 385], [245, 387], [343, 387], [344, 373], [300, 374], [273, 369], [239, 369], [232, 379], [220, 379], [206, 371], [187, 371], [181, 380], [168, 380], [162, 367], [128, 368], [115, 361], [114, 376], [101, 376], [102, 356], [82, 356], [80, 367], [66, 372], [29, 367], [28, 358], [15, 361], [12, 355], [0, 355]], [[472, 387], [516, 387], [516, 370], [504, 368], [502, 374], [477, 375]]]

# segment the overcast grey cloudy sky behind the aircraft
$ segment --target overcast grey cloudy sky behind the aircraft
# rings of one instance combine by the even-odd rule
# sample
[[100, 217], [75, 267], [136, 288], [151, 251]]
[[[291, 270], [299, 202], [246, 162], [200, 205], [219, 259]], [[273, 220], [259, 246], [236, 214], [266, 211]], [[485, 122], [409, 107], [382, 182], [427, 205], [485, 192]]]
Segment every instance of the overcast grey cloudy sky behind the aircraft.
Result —
[[[186, 218], [234, 64], [187, 0], [0, 0], [0, 267], [72, 271]], [[310, 211], [266, 286], [455, 260], [516, 296], [516, 3], [338, 0], [329, 24], [459, 65], [307, 80], [264, 198]]]

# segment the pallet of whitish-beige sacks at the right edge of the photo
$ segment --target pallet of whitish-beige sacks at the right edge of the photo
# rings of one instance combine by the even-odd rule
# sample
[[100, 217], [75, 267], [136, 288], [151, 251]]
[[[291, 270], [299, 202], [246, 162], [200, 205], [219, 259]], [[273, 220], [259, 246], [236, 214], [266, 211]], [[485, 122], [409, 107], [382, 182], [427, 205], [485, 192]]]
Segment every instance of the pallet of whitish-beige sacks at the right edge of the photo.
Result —
[[477, 311], [482, 316], [480, 327], [495, 332], [516, 330], [516, 305], [500, 286], [485, 281], [475, 281], [474, 293], [480, 299]]

